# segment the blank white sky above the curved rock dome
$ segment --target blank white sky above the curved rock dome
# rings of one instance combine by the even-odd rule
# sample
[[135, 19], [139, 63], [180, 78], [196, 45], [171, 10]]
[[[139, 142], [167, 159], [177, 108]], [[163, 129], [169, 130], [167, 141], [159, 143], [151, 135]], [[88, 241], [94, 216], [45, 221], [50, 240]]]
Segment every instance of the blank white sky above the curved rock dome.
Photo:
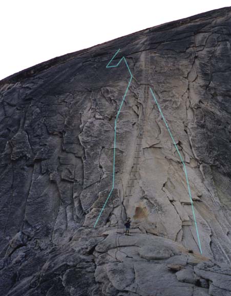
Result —
[[0, 0], [0, 80], [68, 52], [231, 0]]

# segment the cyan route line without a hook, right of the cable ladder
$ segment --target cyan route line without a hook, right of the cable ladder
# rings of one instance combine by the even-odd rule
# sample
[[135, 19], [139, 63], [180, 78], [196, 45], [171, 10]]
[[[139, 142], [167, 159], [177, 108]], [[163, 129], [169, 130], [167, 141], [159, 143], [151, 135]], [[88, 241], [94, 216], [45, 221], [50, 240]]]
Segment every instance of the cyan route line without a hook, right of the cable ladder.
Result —
[[165, 125], [166, 125], [167, 131], [169, 132], [170, 137], [171, 137], [172, 140], [173, 140], [173, 143], [174, 143], [174, 145], [175, 145], [175, 147], [176, 147], [177, 153], [179, 154], [180, 160], [181, 160], [181, 162], [182, 162], [182, 164], [183, 164], [184, 173], [185, 173], [185, 178], [186, 178], [186, 182], [187, 182], [188, 195], [190, 196], [190, 201], [191, 201], [191, 206], [192, 206], [192, 211], [193, 211], [193, 217], [194, 217], [195, 227], [196, 227], [196, 231], [197, 231], [198, 245], [199, 245], [200, 252], [201, 252], [201, 254], [202, 254], [201, 244], [200, 244], [200, 237], [199, 237], [199, 233], [198, 233], [197, 221], [196, 221], [196, 216], [195, 216], [194, 206], [193, 206], [193, 199], [192, 199], [192, 194], [191, 194], [190, 184], [188, 183], [188, 177], [187, 177], [186, 165], [185, 165], [185, 163], [184, 163], [184, 161], [183, 161], [183, 158], [182, 158], [181, 155], [180, 155], [179, 149], [178, 149], [177, 144], [176, 144], [176, 142], [175, 142], [175, 140], [174, 140], [174, 138], [173, 138], [173, 135], [172, 135], [172, 133], [171, 133], [171, 131], [170, 131], [169, 125], [167, 124], [167, 122], [166, 122], [166, 120], [165, 120], [165, 118], [164, 118], [164, 116], [163, 116], [163, 113], [162, 113], [162, 110], [161, 110], [161, 108], [160, 108], [160, 105], [159, 105], [159, 103], [157, 102], [157, 99], [156, 99], [156, 97], [155, 97], [155, 95], [154, 95], [153, 90], [152, 90], [151, 87], [150, 87], [150, 90], [151, 90], [151, 93], [152, 93], [153, 99], [154, 99], [155, 103], [157, 104], [157, 107], [158, 107], [158, 109], [159, 109], [159, 112], [160, 112], [160, 114], [161, 114], [161, 116], [162, 116], [162, 118], [163, 118], [163, 121], [164, 121], [164, 123], [165, 123]]

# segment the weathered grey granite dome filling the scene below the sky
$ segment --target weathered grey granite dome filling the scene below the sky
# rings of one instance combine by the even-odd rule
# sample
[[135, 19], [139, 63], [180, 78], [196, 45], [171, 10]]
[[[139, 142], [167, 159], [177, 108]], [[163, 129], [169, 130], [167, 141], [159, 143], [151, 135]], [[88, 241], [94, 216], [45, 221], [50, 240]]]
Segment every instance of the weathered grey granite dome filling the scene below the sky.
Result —
[[[0, 82], [2, 296], [231, 294], [231, 8]], [[133, 80], [114, 124], [130, 74]], [[199, 254], [182, 163], [201, 240]], [[132, 218], [132, 235], [123, 222]]]

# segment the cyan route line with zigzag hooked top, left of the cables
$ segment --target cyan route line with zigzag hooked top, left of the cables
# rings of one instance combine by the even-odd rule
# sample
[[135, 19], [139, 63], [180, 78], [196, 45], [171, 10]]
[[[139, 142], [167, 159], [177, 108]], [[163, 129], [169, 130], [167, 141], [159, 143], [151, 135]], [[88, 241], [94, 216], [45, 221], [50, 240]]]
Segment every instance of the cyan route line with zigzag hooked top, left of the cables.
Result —
[[104, 208], [106, 207], [107, 202], [108, 202], [108, 200], [109, 200], [109, 198], [110, 198], [110, 196], [111, 196], [111, 194], [112, 194], [112, 191], [113, 191], [113, 189], [114, 189], [114, 184], [115, 184], [116, 125], [117, 125], [117, 120], [118, 120], [118, 117], [119, 117], [120, 110], [121, 110], [121, 108], [122, 108], [123, 102], [124, 102], [125, 97], [126, 97], [126, 95], [127, 95], [127, 93], [128, 93], [128, 89], [129, 89], [129, 86], [130, 86], [131, 81], [132, 81], [132, 78], [133, 78], [132, 73], [131, 73], [131, 70], [130, 70], [130, 68], [129, 68], [129, 65], [128, 65], [128, 63], [127, 63], [127, 61], [126, 61], [126, 59], [125, 59], [124, 57], [122, 57], [122, 58], [119, 60], [119, 62], [118, 62], [115, 66], [109, 66], [119, 51], [120, 51], [120, 48], [119, 48], [119, 49], [116, 51], [116, 53], [113, 55], [111, 61], [108, 63], [108, 65], [106, 66], [106, 68], [114, 68], [114, 67], [117, 67], [117, 66], [122, 62], [122, 60], [124, 60], [126, 66], [127, 66], [127, 68], [128, 68], [128, 70], [129, 70], [129, 73], [130, 73], [130, 75], [131, 75], [131, 78], [130, 78], [130, 80], [129, 80], [129, 84], [128, 84], [126, 90], [125, 90], [125, 93], [124, 93], [124, 95], [123, 95], [123, 99], [122, 99], [122, 102], [121, 102], [121, 104], [120, 104], [120, 106], [119, 106], [119, 110], [118, 110], [118, 113], [117, 113], [117, 115], [116, 115], [116, 119], [115, 119], [112, 189], [111, 189], [111, 191], [110, 191], [110, 193], [109, 193], [109, 195], [108, 195], [106, 201], [104, 202], [104, 205], [103, 205], [103, 207], [102, 207], [102, 209], [101, 209], [101, 211], [100, 211], [100, 213], [99, 213], [99, 215], [98, 215], [98, 218], [97, 218], [96, 221], [95, 221], [94, 228], [96, 227], [96, 225], [97, 225], [97, 223], [98, 223], [98, 221], [99, 221], [99, 218], [100, 218], [100, 216], [101, 216], [101, 214], [102, 214]]

